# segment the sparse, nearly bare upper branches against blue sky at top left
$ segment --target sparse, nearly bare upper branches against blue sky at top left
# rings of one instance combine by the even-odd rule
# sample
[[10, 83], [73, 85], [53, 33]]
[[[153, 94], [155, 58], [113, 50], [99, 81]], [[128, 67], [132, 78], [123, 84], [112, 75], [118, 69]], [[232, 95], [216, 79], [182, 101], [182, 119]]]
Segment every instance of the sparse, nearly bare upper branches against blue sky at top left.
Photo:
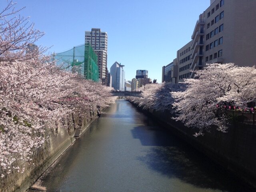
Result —
[[22, 17], [16, 9], [16, 3], [7, 0], [6, 7], [0, 10], [0, 62], [27, 60], [40, 55], [47, 48], [39, 48], [37, 52], [28, 51], [28, 44], [33, 44], [44, 35], [44, 32], [34, 29], [34, 23]]

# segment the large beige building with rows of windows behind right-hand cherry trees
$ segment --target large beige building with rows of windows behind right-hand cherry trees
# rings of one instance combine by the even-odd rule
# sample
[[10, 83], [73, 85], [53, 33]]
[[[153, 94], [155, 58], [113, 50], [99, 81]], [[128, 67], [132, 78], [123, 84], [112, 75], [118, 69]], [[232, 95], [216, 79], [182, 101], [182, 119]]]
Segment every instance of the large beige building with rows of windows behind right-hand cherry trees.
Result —
[[172, 83], [193, 78], [193, 71], [208, 63], [254, 66], [255, 10], [256, 0], [210, 0], [196, 21], [192, 40], [177, 51], [171, 66]]

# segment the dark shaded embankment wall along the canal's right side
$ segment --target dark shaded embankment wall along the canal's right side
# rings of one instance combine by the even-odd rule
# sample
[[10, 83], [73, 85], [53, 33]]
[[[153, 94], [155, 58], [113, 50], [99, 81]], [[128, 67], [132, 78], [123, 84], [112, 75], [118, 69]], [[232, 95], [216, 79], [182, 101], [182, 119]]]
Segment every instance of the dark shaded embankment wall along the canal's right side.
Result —
[[174, 115], [169, 111], [144, 110], [137, 104], [132, 104], [214, 162], [233, 172], [252, 188], [256, 188], [256, 126], [233, 123], [228, 132], [211, 128], [203, 136], [195, 137], [193, 135], [198, 130], [173, 120]]

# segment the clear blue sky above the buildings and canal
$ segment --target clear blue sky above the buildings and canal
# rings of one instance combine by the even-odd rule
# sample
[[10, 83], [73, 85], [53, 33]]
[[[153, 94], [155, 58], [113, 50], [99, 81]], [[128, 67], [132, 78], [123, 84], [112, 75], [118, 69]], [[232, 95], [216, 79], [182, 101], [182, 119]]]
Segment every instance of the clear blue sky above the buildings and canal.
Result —
[[[0, 9], [6, 0], [0, 0]], [[101, 28], [108, 33], [108, 69], [117, 61], [126, 80], [136, 70], [162, 80], [162, 66], [191, 40], [199, 15], [210, 0], [14, 0], [26, 8], [35, 27], [46, 34], [36, 42], [50, 52], [62, 52], [84, 44], [84, 32]]]

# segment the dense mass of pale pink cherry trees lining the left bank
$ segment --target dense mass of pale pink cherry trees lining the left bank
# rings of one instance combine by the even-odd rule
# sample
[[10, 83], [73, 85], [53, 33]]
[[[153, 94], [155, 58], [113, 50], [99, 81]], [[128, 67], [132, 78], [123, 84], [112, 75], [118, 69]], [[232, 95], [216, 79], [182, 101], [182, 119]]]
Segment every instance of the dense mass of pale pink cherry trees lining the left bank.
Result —
[[[109, 91], [56, 66], [44, 49], [27, 52], [43, 33], [34, 30], [28, 18], [16, 17], [12, 1], [0, 12], [0, 176], [24, 167], [33, 149], [48, 138], [46, 124], [72, 112], [107, 106]], [[20, 170], [22, 169], [22, 170]]]

